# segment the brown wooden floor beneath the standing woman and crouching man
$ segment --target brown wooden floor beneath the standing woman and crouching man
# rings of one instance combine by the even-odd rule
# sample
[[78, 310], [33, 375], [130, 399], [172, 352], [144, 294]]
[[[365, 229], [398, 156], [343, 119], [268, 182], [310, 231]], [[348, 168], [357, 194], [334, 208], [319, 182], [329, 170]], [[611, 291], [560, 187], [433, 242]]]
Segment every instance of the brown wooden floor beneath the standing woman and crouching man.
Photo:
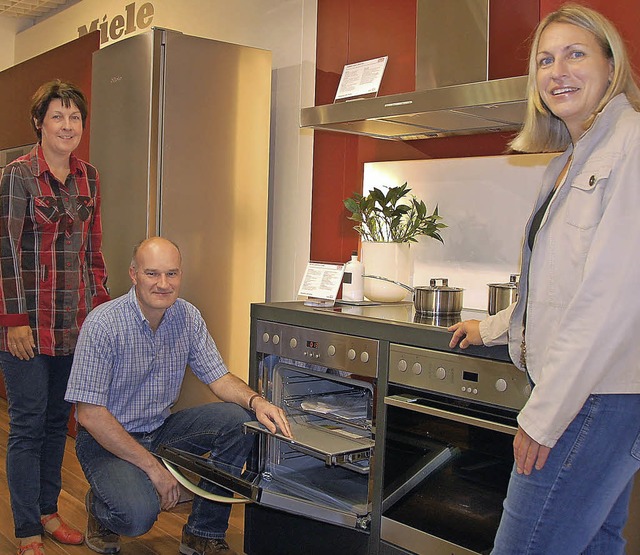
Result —
[[[5, 468], [8, 432], [7, 403], [0, 398], [0, 554], [2, 555], [15, 553], [17, 550]], [[58, 508], [63, 518], [83, 531], [87, 522], [84, 508], [87, 489], [87, 481], [76, 458], [74, 440], [69, 437], [62, 467], [62, 492]], [[177, 555], [182, 526], [187, 521], [190, 511], [191, 503], [183, 503], [170, 512], [163, 512], [155, 526], [144, 536], [123, 537], [121, 555]], [[234, 505], [227, 531], [227, 542], [238, 553], [243, 553], [243, 523], [244, 505]], [[95, 554], [85, 545], [62, 545], [49, 537], [45, 537], [44, 544], [47, 555]]]

